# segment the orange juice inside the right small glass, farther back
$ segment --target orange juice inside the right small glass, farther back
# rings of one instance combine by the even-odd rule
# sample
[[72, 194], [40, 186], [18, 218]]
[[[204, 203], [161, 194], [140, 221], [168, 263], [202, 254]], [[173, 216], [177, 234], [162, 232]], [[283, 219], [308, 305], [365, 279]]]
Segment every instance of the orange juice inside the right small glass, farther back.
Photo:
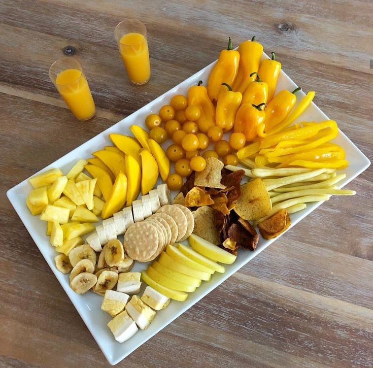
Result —
[[150, 79], [148, 42], [144, 35], [130, 32], [119, 41], [119, 51], [129, 79], [134, 84], [144, 84]]

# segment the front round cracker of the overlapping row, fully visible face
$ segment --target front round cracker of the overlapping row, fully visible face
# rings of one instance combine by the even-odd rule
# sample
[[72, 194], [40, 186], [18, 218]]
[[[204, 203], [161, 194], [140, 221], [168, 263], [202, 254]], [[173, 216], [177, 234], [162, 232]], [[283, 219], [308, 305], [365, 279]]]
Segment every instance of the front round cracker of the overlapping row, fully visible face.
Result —
[[150, 222], [136, 222], [124, 234], [123, 246], [128, 256], [146, 262], [158, 249], [158, 231]]

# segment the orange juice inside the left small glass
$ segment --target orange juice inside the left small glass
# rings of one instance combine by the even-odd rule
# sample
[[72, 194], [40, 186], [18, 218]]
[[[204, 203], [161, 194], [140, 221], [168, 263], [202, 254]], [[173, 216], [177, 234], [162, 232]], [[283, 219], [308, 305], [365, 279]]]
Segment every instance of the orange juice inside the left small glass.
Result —
[[78, 69], [58, 73], [56, 87], [69, 109], [79, 120], [88, 120], [96, 113], [91, 91], [84, 74]]

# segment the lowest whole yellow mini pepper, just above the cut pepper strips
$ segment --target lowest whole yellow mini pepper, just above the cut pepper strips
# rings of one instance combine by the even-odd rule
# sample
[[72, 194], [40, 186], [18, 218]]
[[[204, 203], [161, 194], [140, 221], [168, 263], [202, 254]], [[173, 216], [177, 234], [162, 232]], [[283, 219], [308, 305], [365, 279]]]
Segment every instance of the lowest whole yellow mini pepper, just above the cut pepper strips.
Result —
[[235, 115], [234, 132], [244, 133], [246, 142], [251, 142], [257, 136], [258, 125], [264, 121], [265, 113], [259, 105], [244, 104]]

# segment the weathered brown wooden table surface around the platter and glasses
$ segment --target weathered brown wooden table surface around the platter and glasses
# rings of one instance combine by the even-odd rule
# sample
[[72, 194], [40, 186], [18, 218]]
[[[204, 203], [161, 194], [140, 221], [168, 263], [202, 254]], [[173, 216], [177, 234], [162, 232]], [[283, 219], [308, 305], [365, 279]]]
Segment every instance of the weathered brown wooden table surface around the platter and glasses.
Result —
[[[0, 1], [0, 366], [108, 366], [5, 192], [256, 35], [373, 156], [373, 2]], [[148, 29], [152, 79], [130, 85], [113, 32]], [[74, 119], [48, 77], [74, 46], [97, 106]], [[373, 366], [370, 168], [118, 366]]]

